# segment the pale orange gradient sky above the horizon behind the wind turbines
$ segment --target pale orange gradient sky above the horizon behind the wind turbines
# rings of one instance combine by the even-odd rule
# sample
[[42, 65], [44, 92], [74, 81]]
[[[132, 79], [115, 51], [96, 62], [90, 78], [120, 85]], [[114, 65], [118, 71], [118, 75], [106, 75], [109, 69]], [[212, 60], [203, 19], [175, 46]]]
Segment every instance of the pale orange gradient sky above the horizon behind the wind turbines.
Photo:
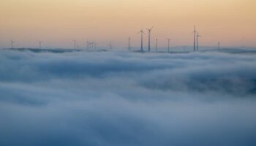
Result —
[[[196, 25], [201, 45], [256, 46], [255, 0], [1, 0], [0, 47], [72, 47], [86, 39], [99, 46], [140, 45], [141, 28], [165, 46], [192, 45]], [[152, 40], [153, 41], [153, 40]], [[145, 38], [146, 44], [146, 38]], [[152, 42], [152, 45], [154, 43]]]

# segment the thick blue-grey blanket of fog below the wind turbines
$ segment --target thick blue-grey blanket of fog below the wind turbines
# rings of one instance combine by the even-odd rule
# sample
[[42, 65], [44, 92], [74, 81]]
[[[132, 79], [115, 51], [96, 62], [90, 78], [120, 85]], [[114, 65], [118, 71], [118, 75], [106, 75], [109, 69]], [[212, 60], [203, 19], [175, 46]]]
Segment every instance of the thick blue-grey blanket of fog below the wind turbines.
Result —
[[256, 56], [0, 52], [0, 145], [255, 145]]

